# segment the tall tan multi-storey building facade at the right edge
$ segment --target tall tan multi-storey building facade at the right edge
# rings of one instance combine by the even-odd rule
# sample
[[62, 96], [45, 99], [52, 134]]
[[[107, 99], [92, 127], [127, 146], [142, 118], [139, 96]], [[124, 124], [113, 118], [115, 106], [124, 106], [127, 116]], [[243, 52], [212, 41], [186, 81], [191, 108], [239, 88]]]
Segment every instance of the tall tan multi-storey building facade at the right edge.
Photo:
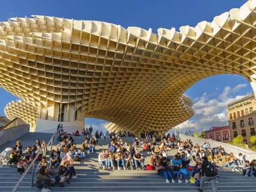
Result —
[[255, 95], [250, 94], [228, 104], [227, 115], [228, 124], [230, 125], [231, 130], [231, 139], [238, 135], [242, 135], [243, 142], [249, 144], [251, 136], [255, 135]]

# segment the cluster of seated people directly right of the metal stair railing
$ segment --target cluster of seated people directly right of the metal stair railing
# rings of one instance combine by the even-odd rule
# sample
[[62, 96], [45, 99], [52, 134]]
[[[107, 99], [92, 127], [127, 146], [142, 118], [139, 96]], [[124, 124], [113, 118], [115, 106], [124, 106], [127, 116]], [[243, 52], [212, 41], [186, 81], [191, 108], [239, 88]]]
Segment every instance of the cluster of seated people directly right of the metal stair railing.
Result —
[[50, 151], [49, 164], [43, 157], [37, 167], [36, 183], [43, 192], [50, 191], [52, 184], [59, 183], [60, 187], [64, 187], [65, 183], [70, 184], [70, 179], [77, 179], [73, 162], [83, 160], [90, 152], [94, 153], [97, 146], [96, 136], [90, 132], [85, 134], [81, 149], [76, 147], [73, 137], [66, 132], [59, 134], [58, 142]]

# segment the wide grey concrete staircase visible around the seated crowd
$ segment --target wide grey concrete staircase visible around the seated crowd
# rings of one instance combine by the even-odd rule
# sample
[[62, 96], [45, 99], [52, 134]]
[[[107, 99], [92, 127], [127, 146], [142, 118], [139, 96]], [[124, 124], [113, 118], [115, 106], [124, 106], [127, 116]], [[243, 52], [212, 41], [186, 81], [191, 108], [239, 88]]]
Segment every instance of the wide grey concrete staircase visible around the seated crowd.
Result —
[[[29, 133], [20, 138], [23, 145], [25, 143], [31, 145], [35, 139], [49, 140], [50, 134]], [[83, 137], [74, 137], [75, 143], [81, 144]], [[132, 143], [133, 138], [126, 138]], [[31, 143], [31, 144], [29, 144]], [[148, 170], [102, 170], [99, 169], [97, 156], [102, 149], [108, 146], [108, 140], [99, 140], [100, 146], [96, 150], [96, 154], [88, 154], [85, 161], [76, 162], [75, 168], [78, 179], [72, 179], [66, 187], [52, 187], [52, 191], [197, 191], [195, 184], [166, 184], [165, 180], [154, 171]], [[13, 146], [13, 143], [7, 143], [6, 146]], [[78, 145], [80, 146], [80, 145]], [[169, 152], [169, 155], [175, 154], [175, 150]], [[144, 154], [145, 164], [149, 162], [149, 155]], [[245, 178], [242, 173], [234, 173], [229, 170], [220, 170], [220, 183], [218, 191], [245, 192], [256, 191], [255, 179]], [[0, 168], [0, 191], [11, 191], [20, 175], [17, 174], [15, 168], [2, 166]], [[18, 191], [39, 191], [36, 187], [29, 187], [31, 181], [31, 173], [23, 180]], [[210, 185], [206, 185], [204, 191], [212, 191]]]

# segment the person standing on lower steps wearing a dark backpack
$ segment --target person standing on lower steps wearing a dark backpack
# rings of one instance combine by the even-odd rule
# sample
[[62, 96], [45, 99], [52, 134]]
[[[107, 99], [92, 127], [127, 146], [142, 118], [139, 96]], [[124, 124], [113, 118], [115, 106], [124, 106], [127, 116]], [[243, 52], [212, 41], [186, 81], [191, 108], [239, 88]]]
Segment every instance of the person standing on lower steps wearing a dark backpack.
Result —
[[218, 170], [214, 163], [210, 163], [207, 157], [203, 157], [203, 164], [202, 164], [202, 177], [200, 180], [200, 188], [198, 191], [203, 192], [203, 185], [205, 181], [209, 181], [212, 185], [213, 192], [217, 192], [216, 187], [216, 175], [218, 175]]

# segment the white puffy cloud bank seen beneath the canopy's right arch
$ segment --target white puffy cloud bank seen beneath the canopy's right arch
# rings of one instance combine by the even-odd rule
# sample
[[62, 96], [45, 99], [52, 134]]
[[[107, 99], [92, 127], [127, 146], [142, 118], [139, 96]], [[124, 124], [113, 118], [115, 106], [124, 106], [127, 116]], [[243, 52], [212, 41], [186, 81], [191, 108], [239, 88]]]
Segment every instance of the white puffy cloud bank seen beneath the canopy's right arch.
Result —
[[[209, 130], [213, 126], [227, 125], [227, 104], [244, 97], [245, 95], [232, 95], [246, 86], [246, 84], [239, 84], [234, 86], [234, 88], [226, 86], [215, 98], [212, 98], [212, 94], [204, 92], [201, 97], [194, 99], [193, 109], [195, 115], [175, 128], [184, 133], [187, 130], [201, 132]], [[216, 90], [219, 90], [219, 88], [216, 88]]]

